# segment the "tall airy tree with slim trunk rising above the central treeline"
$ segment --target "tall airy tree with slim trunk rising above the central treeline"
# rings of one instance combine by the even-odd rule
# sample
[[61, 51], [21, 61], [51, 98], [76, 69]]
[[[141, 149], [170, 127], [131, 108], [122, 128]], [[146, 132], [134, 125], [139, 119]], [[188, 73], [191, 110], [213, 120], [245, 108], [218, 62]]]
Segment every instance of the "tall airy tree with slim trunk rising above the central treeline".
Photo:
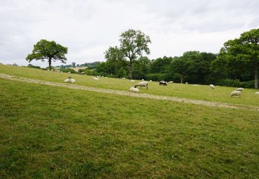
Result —
[[138, 57], [142, 56], [145, 52], [146, 54], [150, 54], [150, 50], [148, 48], [148, 43], [151, 43], [149, 36], [146, 36], [140, 30], [127, 30], [120, 35], [119, 38], [119, 48], [110, 47], [105, 52], [106, 59], [108, 58], [117, 58], [118, 56], [122, 59], [128, 59], [129, 61], [129, 75], [132, 79], [133, 72], [133, 61], [135, 61]]

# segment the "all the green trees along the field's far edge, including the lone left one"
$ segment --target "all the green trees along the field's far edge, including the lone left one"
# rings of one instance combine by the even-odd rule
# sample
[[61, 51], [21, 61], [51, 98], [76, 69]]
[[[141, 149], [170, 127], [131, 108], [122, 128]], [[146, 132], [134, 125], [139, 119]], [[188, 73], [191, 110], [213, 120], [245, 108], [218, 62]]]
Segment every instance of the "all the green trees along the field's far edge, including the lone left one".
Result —
[[[140, 30], [127, 30], [119, 36], [119, 45], [110, 47], [105, 54], [106, 62], [97, 63], [95, 69], [86, 74], [111, 77], [145, 78], [154, 81], [175, 81], [184, 83], [215, 83], [258, 88], [259, 29], [244, 32], [240, 38], [224, 43], [219, 54], [190, 51], [182, 56], [150, 60], [149, 36]], [[41, 40], [34, 45], [32, 54], [26, 60], [59, 60], [66, 63], [67, 48], [55, 41]], [[75, 63], [73, 64], [75, 65]]]

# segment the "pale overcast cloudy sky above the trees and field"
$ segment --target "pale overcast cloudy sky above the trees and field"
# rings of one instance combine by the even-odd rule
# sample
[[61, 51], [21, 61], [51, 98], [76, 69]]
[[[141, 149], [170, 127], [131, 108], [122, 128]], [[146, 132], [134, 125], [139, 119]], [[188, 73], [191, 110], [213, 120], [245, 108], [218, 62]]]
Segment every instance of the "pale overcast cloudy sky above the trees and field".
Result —
[[105, 61], [104, 51], [131, 28], [151, 37], [150, 59], [217, 53], [225, 41], [259, 28], [259, 1], [0, 0], [0, 27], [4, 64], [28, 65], [26, 56], [40, 39], [68, 47], [68, 64]]

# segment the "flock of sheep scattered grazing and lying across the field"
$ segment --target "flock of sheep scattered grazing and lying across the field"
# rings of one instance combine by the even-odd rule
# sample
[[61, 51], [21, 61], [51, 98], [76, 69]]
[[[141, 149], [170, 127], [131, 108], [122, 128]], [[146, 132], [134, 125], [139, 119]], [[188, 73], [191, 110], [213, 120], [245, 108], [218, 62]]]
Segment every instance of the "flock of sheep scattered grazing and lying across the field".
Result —
[[[94, 80], [99, 80], [100, 76], [94, 76], [93, 79]], [[102, 76], [104, 77], [104, 76]], [[126, 78], [122, 78], [122, 79], [126, 79]], [[75, 83], [75, 79], [73, 79], [72, 77], [68, 77], [68, 79], [64, 80], [65, 83]], [[134, 80], [131, 80], [131, 82], [135, 82]], [[173, 81], [169, 81], [168, 83], [173, 83]], [[188, 83], [186, 83], [188, 84]], [[164, 85], [167, 86], [165, 81], [159, 81], [159, 85]], [[195, 84], [198, 85], [198, 84]], [[148, 89], [148, 82], [144, 81], [144, 79], [142, 79], [142, 81], [140, 81], [140, 83], [137, 83], [134, 87], [131, 87], [129, 89], [130, 92], [135, 92], [135, 93], [139, 93], [140, 89], [138, 89], [137, 87], [146, 87], [146, 89]], [[211, 89], [214, 89], [215, 86], [214, 85], [209, 85], [209, 87]], [[242, 87], [238, 87], [238, 89], [236, 89], [235, 91], [231, 92], [230, 97], [232, 98], [233, 96], [238, 96], [239, 98], [241, 98], [241, 94], [244, 91], [244, 88]]]

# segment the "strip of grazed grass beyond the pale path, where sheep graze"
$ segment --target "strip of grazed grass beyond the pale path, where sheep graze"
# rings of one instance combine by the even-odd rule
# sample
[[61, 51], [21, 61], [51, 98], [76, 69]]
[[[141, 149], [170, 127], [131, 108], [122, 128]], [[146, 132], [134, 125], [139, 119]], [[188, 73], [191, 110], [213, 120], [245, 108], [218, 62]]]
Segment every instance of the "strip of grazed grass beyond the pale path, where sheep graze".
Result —
[[[135, 85], [136, 82], [122, 80], [118, 78], [99, 78], [99, 81], [93, 80], [93, 76], [85, 76], [79, 74], [65, 74], [44, 70], [37, 70], [28, 67], [16, 67], [10, 65], [0, 65], [0, 73], [13, 74], [27, 78], [36, 78], [45, 81], [54, 81], [63, 83], [68, 76], [73, 76], [77, 80], [77, 85], [85, 85], [90, 87], [100, 87], [106, 89], [119, 89], [128, 91], [128, 89]], [[258, 92], [256, 89], [244, 89], [242, 98], [230, 98], [230, 93], [236, 87], [219, 87], [216, 86], [214, 90], [209, 88], [209, 85], [186, 85], [173, 83], [168, 86], [160, 86], [157, 82], [148, 82], [148, 90], [141, 89], [142, 93], [157, 94], [164, 96], [177, 96], [180, 98], [200, 99], [206, 101], [218, 101], [224, 103], [243, 104], [243, 105], [258, 105], [259, 95], [254, 94]]]

